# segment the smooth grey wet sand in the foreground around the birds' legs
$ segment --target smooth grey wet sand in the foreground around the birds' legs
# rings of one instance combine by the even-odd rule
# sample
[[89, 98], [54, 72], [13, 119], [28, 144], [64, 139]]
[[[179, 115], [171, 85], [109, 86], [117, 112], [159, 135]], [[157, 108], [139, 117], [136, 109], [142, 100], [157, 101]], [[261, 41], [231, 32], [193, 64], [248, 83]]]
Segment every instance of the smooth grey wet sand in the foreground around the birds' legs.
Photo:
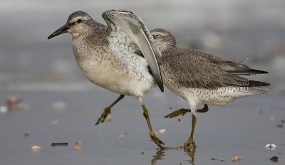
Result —
[[[0, 115], [1, 164], [234, 164], [232, 156], [241, 156], [241, 164], [265, 165], [272, 156], [285, 158], [284, 128], [276, 127], [285, 119], [284, 97], [260, 95], [210, 106], [209, 112], [197, 115], [195, 151], [160, 151], [150, 142], [140, 104], [133, 97], [113, 108], [111, 122], [95, 126], [103, 108], [118, 95], [98, 87], [90, 92], [1, 92], [1, 105], [9, 95], [29, 108]], [[166, 129], [160, 139], [167, 147], [182, 146], [190, 134], [190, 115], [180, 117], [180, 122], [163, 117], [187, 107], [186, 102], [156, 89], [145, 103], [155, 131]], [[68, 142], [68, 147], [51, 147], [53, 142]], [[269, 143], [276, 149], [265, 149]], [[41, 149], [31, 151], [33, 145]], [[82, 150], [73, 150], [76, 146]]]

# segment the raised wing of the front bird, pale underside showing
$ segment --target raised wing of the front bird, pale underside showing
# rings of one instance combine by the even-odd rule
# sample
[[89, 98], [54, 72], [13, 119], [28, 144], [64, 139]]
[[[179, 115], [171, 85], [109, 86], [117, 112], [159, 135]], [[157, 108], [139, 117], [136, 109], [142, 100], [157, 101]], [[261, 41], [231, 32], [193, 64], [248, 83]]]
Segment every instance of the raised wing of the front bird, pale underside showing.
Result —
[[130, 43], [135, 43], [144, 55], [158, 87], [163, 92], [163, 82], [157, 57], [161, 56], [160, 50], [153, 43], [152, 35], [147, 30], [145, 23], [130, 11], [110, 10], [102, 14], [112, 33], [125, 33], [130, 37]]

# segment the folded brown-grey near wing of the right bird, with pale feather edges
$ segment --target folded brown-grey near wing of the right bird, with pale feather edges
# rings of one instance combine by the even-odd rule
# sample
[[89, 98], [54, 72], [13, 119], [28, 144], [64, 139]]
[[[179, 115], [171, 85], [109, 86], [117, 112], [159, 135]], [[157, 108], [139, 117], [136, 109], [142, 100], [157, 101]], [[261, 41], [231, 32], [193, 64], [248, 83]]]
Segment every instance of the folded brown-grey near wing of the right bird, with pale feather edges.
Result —
[[163, 70], [167, 77], [177, 85], [192, 88], [217, 90], [224, 86], [247, 86], [249, 80], [233, 75], [219, 68], [206, 58], [196, 55], [180, 54], [162, 56]]

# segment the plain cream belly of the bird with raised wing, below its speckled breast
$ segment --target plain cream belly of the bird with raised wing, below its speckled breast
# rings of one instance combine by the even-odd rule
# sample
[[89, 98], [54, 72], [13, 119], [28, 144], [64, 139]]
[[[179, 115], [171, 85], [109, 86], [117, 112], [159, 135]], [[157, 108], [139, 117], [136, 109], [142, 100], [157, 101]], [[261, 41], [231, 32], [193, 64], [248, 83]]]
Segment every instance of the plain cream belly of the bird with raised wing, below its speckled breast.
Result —
[[95, 85], [120, 93], [121, 95], [143, 96], [154, 83], [148, 72], [135, 73], [128, 68], [116, 68], [110, 61], [78, 63], [82, 73]]

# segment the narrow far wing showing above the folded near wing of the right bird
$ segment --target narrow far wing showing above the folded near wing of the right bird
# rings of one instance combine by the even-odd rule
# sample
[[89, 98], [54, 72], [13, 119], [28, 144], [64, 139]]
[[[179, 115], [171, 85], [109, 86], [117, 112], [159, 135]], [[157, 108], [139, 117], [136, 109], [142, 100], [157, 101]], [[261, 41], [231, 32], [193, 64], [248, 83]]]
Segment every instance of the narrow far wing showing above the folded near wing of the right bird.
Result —
[[254, 74], [268, 73], [268, 72], [263, 71], [263, 70], [256, 70], [256, 69], [249, 68], [248, 65], [245, 65], [244, 62], [247, 61], [249, 59], [249, 57], [245, 58], [244, 60], [241, 60], [239, 62], [234, 62], [234, 61], [224, 60], [222, 58], [218, 58], [212, 54], [205, 53], [201, 50], [191, 49], [190, 51], [191, 51], [192, 55], [199, 55], [199, 56], [202, 56], [204, 58], [207, 58], [208, 60], [212, 61], [212, 63], [219, 65], [220, 68], [222, 68], [223, 70], [227, 70], [227, 72], [232, 73], [232, 74], [254, 75]]

